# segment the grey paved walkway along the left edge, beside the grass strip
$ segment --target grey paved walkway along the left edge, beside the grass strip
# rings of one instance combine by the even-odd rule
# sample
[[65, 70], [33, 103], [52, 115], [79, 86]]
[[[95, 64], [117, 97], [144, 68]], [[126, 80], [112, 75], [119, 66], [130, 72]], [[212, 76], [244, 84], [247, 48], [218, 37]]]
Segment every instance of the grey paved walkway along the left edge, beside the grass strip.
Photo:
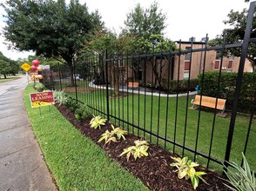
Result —
[[0, 83], [0, 191], [57, 190], [24, 108], [26, 76]]

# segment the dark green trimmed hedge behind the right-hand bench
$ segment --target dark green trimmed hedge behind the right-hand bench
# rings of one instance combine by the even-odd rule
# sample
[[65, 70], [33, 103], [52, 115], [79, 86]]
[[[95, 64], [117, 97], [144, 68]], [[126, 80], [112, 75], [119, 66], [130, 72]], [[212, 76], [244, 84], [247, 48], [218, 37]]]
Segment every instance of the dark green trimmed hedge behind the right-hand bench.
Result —
[[[232, 109], [233, 95], [236, 88], [237, 76], [237, 73], [223, 72], [221, 74], [219, 82], [219, 72], [206, 72], [204, 76], [202, 74], [199, 75], [199, 89], [200, 91], [202, 91], [202, 95], [212, 97], [216, 97], [217, 95], [219, 95], [219, 98], [226, 99], [226, 109]], [[251, 109], [253, 109], [253, 99], [255, 91], [256, 72], [244, 73], [239, 94], [239, 112], [249, 113]]]

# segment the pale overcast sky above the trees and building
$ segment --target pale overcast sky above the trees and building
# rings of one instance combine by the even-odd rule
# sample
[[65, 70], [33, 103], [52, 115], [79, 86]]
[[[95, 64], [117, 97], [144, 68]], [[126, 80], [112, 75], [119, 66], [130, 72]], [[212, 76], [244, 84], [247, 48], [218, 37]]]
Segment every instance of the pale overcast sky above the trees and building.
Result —
[[[0, 0], [1, 3], [5, 2]], [[69, 1], [66, 1], [69, 2]], [[98, 10], [105, 26], [119, 33], [124, 27], [127, 13], [140, 3], [144, 8], [149, 8], [154, 0], [80, 0], [86, 3], [90, 11]], [[172, 41], [179, 39], [187, 41], [191, 36], [200, 41], [206, 34], [210, 39], [221, 34], [227, 26], [223, 23], [230, 10], [243, 10], [249, 8], [249, 3], [244, 0], [156, 0], [159, 10], [166, 14], [167, 28], [165, 36]], [[0, 9], [0, 27], [3, 29], [3, 9]], [[3, 36], [0, 36], [0, 51], [4, 56], [13, 60], [26, 58], [32, 53], [8, 50], [3, 44]]]

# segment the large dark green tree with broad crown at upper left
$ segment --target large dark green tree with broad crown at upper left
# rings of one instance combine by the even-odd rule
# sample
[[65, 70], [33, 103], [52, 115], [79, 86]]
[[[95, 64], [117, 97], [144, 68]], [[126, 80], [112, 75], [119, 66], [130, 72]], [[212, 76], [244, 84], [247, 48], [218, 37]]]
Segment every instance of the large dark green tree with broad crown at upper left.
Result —
[[65, 63], [73, 86], [74, 57], [88, 34], [103, 25], [98, 11], [90, 13], [78, 0], [8, 0], [2, 6], [7, 23], [3, 35], [12, 46]]

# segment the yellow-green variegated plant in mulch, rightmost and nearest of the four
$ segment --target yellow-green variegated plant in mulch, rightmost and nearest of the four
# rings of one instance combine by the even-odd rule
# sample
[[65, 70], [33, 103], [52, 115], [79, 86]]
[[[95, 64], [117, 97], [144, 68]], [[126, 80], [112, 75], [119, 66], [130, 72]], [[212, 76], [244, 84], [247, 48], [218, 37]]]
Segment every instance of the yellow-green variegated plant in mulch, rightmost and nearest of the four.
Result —
[[191, 179], [192, 187], [196, 189], [199, 186], [199, 179], [205, 181], [202, 178], [202, 175], [205, 175], [205, 172], [196, 171], [195, 167], [198, 167], [199, 164], [188, 160], [188, 157], [179, 158], [179, 157], [172, 157], [172, 162], [170, 165], [171, 167], [178, 168], [178, 177], [179, 179], [185, 178], [185, 180]]

